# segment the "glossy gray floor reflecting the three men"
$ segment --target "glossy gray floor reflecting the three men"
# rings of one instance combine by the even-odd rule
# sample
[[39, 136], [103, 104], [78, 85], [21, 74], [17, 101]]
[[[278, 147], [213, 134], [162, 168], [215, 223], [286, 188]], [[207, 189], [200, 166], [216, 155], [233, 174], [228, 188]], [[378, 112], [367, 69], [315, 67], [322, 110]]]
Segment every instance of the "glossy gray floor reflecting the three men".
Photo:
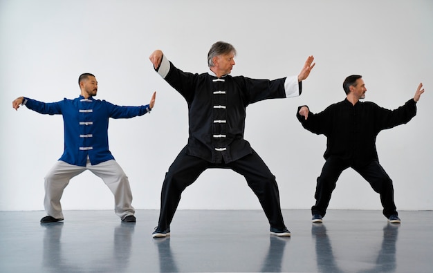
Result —
[[0, 211], [0, 272], [433, 272], [433, 211], [284, 210], [291, 238], [270, 236], [260, 210], [179, 210], [172, 236], [151, 238], [158, 211], [137, 223], [113, 211]]

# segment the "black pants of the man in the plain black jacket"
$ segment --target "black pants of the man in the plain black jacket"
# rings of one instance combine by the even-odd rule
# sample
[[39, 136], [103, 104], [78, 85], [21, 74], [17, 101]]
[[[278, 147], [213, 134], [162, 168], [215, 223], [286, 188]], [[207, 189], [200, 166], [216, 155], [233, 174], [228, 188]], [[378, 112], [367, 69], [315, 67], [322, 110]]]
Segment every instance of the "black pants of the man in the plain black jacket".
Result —
[[351, 167], [357, 171], [371, 187], [380, 195], [380, 203], [383, 207], [383, 215], [389, 218], [392, 214], [397, 214], [396, 205], [394, 204], [394, 187], [392, 180], [389, 178], [382, 166], [377, 160], [367, 164], [367, 166], [358, 168], [353, 167], [349, 162], [331, 156], [323, 166], [322, 173], [317, 178], [317, 186], [315, 191], [316, 203], [311, 207], [312, 214], [320, 214], [324, 216], [326, 209], [331, 200], [332, 191], [335, 189], [340, 174], [345, 169]]

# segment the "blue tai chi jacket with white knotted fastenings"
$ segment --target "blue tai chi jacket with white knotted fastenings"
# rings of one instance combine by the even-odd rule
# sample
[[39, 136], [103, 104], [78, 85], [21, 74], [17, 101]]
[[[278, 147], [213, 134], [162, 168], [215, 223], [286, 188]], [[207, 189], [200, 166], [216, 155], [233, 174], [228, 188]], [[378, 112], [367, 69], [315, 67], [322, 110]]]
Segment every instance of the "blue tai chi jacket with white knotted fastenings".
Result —
[[37, 113], [63, 116], [64, 152], [59, 160], [83, 167], [87, 158], [92, 165], [114, 159], [109, 151], [109, 117], [131, 118], [151, 111], [149, 104], [118, 106], [93, 97], [85, 99], [82, 95], [49, 103], [24, 97], [24, 104]]

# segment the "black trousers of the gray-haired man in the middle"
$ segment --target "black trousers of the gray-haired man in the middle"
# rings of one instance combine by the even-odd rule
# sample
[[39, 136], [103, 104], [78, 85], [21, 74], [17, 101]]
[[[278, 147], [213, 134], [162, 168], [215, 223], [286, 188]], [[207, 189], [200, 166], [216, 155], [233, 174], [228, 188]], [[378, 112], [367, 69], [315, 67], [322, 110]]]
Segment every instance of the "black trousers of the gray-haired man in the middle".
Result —
[[172, 223], [174, 213], [181, 201], [181, 194], [186, 187], [199, 178], [203, 171], [210, 168], [232, 169], [244, 176], [248, 186], [259, 198], [270, 226], [279, 229], [285, 227], [275, 176], [270, 173], [255, 151], [234, 162], [212, 164], [201, 158], [187, 155], [184, 148], [165, 174], [158, 221], [160, 229], [167, 229]]

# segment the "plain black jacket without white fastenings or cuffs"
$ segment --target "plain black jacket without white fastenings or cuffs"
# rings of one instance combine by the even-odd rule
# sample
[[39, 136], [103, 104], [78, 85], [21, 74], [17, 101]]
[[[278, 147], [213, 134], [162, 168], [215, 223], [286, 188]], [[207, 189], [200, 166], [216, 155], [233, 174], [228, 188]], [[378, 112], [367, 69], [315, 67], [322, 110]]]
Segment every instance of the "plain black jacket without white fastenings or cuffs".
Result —
[[380, 131], [407, 123], [416, 115], [413, 99], [392, 111], [373, 102], [357, 102], [353, 106], [345, 99], [320, 113], [309, 112], [307, 120], [299, 113], [301, 107], [297, 119], [302, 126], [317, 135], [326, 135], [324, 158], [338, 156], [357, 167], [378, 160], [376, 136]]

